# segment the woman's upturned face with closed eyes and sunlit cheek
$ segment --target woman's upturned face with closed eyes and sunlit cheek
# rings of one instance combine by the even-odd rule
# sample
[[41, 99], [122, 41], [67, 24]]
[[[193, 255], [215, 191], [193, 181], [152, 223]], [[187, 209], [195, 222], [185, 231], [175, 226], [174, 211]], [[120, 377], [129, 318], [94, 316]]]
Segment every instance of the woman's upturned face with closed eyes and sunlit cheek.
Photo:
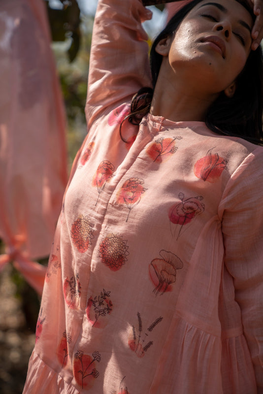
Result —
[[228, 87], [234, 91], [234, 81], [250, 53], [252, 27], [251, 15], [237, 1], [203, 0], [171, 39], [169, 64], [174, 70], [190, 65], [197, 84], [205, 81], [211, 93]]

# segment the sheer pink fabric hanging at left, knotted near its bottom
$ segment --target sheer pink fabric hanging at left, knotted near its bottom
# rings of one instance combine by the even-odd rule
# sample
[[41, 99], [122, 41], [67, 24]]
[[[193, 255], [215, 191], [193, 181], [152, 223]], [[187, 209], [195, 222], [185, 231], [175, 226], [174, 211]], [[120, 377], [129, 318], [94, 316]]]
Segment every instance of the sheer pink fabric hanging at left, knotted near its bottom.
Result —
[[41, 294], [66, 187], [65, 112], [44, 1], [0, 2], [0, 238]]

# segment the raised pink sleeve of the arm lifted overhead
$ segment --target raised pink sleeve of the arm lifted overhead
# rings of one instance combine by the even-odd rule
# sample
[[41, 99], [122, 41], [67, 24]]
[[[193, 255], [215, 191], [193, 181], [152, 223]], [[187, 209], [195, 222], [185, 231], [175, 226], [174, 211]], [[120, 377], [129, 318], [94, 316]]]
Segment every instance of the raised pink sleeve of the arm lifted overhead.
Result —
[[151, 15], [140, 0], [99, 0], [85, 108], [88, 127], [106, 107], [151, 86], [147, 34], [141, 26]]

